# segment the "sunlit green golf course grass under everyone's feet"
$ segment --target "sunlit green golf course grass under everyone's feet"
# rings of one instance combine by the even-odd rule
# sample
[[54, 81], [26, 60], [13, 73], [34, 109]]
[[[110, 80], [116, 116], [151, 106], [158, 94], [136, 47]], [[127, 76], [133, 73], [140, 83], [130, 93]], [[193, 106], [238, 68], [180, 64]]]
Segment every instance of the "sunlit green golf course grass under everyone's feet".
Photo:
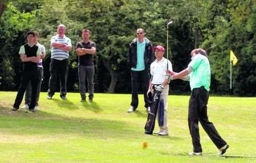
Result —
[[144, 135], [142, 95], [130, 114], [130, 94], [96, 93], [94, 102], [82, 103], [79, 93], [68, 93], [67, 100], [41, 93], [35, 113], [11, 111], [15, 96], [0, 91], [0, 162], [256, 162], [256, 98], [209, 98], [209, 120], [230, 145], [227, 157], [218, 157], [201, 126], [203, 156], [187, 154], [189, 96], [168, 96], [169, 136]]

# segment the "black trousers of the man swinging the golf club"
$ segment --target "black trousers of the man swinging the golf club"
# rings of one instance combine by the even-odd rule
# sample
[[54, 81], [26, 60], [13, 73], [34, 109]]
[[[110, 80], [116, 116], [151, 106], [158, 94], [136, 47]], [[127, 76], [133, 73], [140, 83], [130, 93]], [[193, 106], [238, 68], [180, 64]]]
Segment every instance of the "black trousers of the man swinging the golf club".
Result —
[[208, 136], [218, 149], [226, 145], [226, 141], [224, 141], [218, 134], [213, 123], [209, 122], [208, 120], [208, 99], [209, 93], [207, 90], [204, 89], [204, 87], [192, 90], [188, 106], [188, 127], [192, 137], [193, 152], [202, 152], [198, 126], [199, 122], [201, 123], [201, 126], [204, 128], [204, 131], [207, 132]]

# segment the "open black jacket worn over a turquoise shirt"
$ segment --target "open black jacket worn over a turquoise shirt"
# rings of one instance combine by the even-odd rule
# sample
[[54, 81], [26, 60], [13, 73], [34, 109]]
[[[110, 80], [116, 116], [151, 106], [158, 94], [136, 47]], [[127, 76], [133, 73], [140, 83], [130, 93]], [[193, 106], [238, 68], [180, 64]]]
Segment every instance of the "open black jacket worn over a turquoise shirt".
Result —
[[[149, 69], [150, 64], [155, 60], [155, 56], [152, 53], [152, 45], [150, 40], [148, 40], [147, 38], [144, 38], [144, 39], [146, 40], [146, 47], [144, 52], [144, 64], [145, 64], [145, 69]], [[130, 68], [137, 67], [137, 38], [135, 38], [130, 43], [127, 61]]]

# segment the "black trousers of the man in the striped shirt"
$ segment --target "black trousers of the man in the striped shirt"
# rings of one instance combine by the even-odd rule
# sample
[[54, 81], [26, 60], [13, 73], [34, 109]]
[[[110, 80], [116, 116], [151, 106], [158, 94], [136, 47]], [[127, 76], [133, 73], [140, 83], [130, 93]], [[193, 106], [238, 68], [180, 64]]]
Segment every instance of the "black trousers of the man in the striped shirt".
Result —
[[68, 78], [68, 59], [55, 60], [51, 59], [49, 66], [51, 74], [49, 78], [48, 95], [53, 96], [56, 90], [56, 81], [60, 78], [60, 96], [67, 94], [67, 78]]

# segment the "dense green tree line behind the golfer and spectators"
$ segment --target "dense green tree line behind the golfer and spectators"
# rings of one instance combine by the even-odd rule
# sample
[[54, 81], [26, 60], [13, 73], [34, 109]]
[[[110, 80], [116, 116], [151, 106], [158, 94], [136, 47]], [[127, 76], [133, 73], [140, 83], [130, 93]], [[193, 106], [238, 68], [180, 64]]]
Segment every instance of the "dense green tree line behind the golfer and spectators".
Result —
[[[7, 1], [3, 1], [7, 4]], [[153, 45], [166, 44], [166, 24], [174, 23], [169, 30], [169, 59], [176, 72], [187, 67], [190, 52], [196, 47], [207, 50], [212, 69], [211, 91], [219, 94], [255, 96], [255, 23], [256, 5], [253, 0], [238, 1], [147, 1], [147, 0], [18, 0], [10, 1], [0, 23], [0, 64], [5, 58], [14, 65], [12, 72], [2, 66], [1, 83], [18, 85], [20, 61], [18, 49], [24, 43], [26, 32], [35, 29], [39, 42], [45, 45], [44, 82], [48, 89], [50, 40], [56, 35], [57, 26], [67, 27], [73, 51], [70, 55], [68, 90], [77, 91], [77, 55], [75, 45], [81, 40], [82, 28], [92, 31], [96, 42], [96, 91], [109, 90], [130, 93], [130, 74], [127, 69], [129, 43], [136, 37], [136, 29], [144, 28]], [[233, 89], [229, 90], [229, 52], [238, 58], [233, 66]], [[8, 63], [8, 64], [6, 64]], [[4, 74], [3, 72], [9, 72]], [[15, 76], [13, 76], [15, 74]], [[5, 76], [10, 75], [10, 78]], [[13, 78], [13, 80], [11, 80]], [[10, 81], [3, 81], [3, 80]], [[172, 92], [184, 94], [190, 91], [187, 82], [171, 82]], [[7, 86], [1, 85], [1, 89]], [[11, 87], [14, 89], [14, 87]]]

